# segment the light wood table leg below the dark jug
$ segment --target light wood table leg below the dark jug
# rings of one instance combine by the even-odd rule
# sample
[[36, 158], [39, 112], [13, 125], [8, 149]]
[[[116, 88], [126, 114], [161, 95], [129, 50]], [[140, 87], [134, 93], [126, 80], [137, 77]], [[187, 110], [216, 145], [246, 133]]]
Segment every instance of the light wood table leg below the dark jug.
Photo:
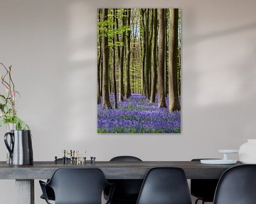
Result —
[[34, 180], [16, 179], [16, 204], [35, 204]]

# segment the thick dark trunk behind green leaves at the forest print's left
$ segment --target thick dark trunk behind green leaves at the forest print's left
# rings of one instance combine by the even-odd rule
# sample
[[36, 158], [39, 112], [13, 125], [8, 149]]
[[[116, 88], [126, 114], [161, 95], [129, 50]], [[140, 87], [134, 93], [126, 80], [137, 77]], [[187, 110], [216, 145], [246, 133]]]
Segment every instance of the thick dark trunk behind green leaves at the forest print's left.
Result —
[[[102, 16], [103, 21], [107, 21], [108, 9], [103, 8]], [[107, 26], [106, 26], [107, 28]], [[103, 61], [103, 74], [102, 74], [102, 108], [112, 108], [110, 104], [110, 93], [109, 93], [109, 46], [107, 33], [102, 31], [102, 61]]]

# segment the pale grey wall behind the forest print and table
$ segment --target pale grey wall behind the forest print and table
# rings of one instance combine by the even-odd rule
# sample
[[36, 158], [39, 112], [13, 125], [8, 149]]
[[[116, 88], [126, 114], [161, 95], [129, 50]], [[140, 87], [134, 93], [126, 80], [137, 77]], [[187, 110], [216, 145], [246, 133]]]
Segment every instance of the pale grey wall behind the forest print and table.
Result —
[[[96, 133], [100, 7], [182, 9], [181, 135]], [[62, 149], [87, 150], [97, 160], [222, 157], [218, 149], [255, 138], [255, 7], [253, 0], [1, 0], [0, 61], [13, 65], [34, 160], [60, 157]], [[0, 160], [5, 156], [2, 140]], [[35, 186], [36, 203], [43, 203]], [[0, 181], [1, 203], [14, 203], [11, 188], [14, 181]]]

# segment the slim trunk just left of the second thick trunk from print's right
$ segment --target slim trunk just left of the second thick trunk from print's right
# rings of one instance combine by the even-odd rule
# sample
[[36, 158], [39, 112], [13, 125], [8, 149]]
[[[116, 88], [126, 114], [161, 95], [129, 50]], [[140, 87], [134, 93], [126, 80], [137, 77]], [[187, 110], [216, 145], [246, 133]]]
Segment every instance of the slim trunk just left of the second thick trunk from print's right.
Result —
[[157, 79], [157, 73], [156, 73], [156, 67], [157, 67], [157, 59], [156, 59], [156, 53], [157, 53], [157, 8], [154, 8], [153, 11], [153, 52], [152, 52], [152, 62], [151, 62], [151, 94], [150, 94], [150, 103], [156, 102], [156, 79]]

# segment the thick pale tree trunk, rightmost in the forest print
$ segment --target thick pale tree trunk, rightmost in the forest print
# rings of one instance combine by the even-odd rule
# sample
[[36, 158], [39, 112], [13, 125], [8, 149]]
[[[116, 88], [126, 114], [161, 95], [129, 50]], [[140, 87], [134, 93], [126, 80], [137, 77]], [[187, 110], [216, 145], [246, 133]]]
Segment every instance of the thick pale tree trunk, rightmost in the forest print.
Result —
[[170, 8], [169, 32], [169, 111], [181, 110], [178, 101], [178, 8]]

